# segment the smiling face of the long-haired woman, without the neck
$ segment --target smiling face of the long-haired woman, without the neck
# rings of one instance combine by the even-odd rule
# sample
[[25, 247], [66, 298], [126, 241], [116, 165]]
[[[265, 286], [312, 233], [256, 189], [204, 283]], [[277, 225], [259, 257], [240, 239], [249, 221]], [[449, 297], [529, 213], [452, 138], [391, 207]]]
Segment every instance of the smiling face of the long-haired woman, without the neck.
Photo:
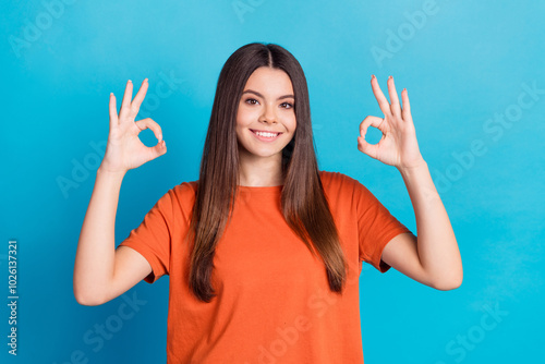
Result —
[[256, 69], [246, 82], [237, 113], [239, 154], [244, 157], [279, 158], [296, 128], [295, 98], [286, 72]]

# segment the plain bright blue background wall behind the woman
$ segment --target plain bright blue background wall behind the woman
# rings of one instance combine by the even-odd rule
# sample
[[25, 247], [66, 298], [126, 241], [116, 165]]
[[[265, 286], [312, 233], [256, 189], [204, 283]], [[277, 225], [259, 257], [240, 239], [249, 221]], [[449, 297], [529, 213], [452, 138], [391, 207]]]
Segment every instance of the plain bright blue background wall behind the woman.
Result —
[[[119, 244], [162, 194], [197, 179], [220, 69], [237, 48], [266, 41], [305, 71], [319, 168], [360, 180], [416, 232], [399, 172], [356, 148], [360, 122], [382, 116], [371, 75], [383, 89], [390, 74], [398, 92], [408, 88], [458, 239], [464, 281], [453, 291], [364, 265], [365, 362], [543, 362], [544, 14], [544, 1], [3, 1], [0, 287], [8, 302], [15, 239], [20, 300], [16, 359], [1, 305], [0, 361], [166, 362], [168, 277], [101, 306], [73, 296], [109, 93], [120, 102], [126, 80], [148, 77], [138, 119], [156, 120], [168, 143], [167, 155], [123, 181]], [[119, 319], [133, 295], [144, 303]], [[100, 341], [95, 330], [107, 321], [118, 326]], [[78, 351], [85, 360], [71, 361]]]

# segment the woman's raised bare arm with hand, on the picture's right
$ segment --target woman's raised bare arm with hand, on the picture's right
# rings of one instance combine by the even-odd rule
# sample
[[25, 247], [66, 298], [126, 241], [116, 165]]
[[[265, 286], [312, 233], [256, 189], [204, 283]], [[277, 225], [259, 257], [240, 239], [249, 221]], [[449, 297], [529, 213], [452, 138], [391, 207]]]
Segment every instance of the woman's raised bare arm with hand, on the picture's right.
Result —
[[[391, 105], [374, 76], [372, 86], [385, 118], [365, 118], [360, 129], [359, 149], [398, 168], [411, 197], [419, 236], [410, 233], [397, 235], [384, 248], [383, 260], [405, 276], [438, 290], [458, 288], [463, 279], [460, 251], [427, 163], [417, 147], [407, 89], [401, 93], [401, 110], [391, 76], [388, 80]], [[383, 139], [377, 145], [365, 142], [370, 125], [383, 132]]]

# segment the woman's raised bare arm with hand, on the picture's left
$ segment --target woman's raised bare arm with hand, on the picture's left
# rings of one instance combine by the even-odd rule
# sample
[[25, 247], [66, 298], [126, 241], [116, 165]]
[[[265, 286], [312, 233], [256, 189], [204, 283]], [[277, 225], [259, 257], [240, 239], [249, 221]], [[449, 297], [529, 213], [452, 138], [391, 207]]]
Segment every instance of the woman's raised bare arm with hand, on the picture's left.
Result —
[[[146, 277], [152, 267], [136, 251], [114, 246], [116, 211], [121, 182], [126, 171], [167, 149], [161, 130], [152, 119], [134, 122], [147, 90], [147, 78], [131, 102], [129, 82], [118, 118], [116, 98], [110, 95], [110, 134], [106, 154], [97, 170], [95, 187], [83, 221], [74, 263], [73, 289], [80, 304], [98, 305], [120, 295]], [[159, 143], [147, 147], [138, 133], [149, 128]]]

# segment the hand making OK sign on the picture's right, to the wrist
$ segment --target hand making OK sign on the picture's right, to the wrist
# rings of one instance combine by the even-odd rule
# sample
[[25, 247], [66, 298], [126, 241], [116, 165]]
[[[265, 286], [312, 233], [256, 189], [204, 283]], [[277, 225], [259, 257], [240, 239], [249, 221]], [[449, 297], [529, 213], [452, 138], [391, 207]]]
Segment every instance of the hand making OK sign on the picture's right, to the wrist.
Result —
[[[393, 77], [388, 78], [388, 94], [390, 102], [386, 99], [375, 75], [371, 78], [373, 94], [384, 113], [384, 118], [368, 116], [360, 124], [358, 149], [382, 162], [400, 168], [412, 168], [424, 163], [416, 142], [416, 132], [411, 117], [409, 96], [407, 89], [401, 92], [403, 108], [399, 104]], [[377, 144], [368, 144], [365, 134], [371, 126], [383, 132], [383, 137]]]

